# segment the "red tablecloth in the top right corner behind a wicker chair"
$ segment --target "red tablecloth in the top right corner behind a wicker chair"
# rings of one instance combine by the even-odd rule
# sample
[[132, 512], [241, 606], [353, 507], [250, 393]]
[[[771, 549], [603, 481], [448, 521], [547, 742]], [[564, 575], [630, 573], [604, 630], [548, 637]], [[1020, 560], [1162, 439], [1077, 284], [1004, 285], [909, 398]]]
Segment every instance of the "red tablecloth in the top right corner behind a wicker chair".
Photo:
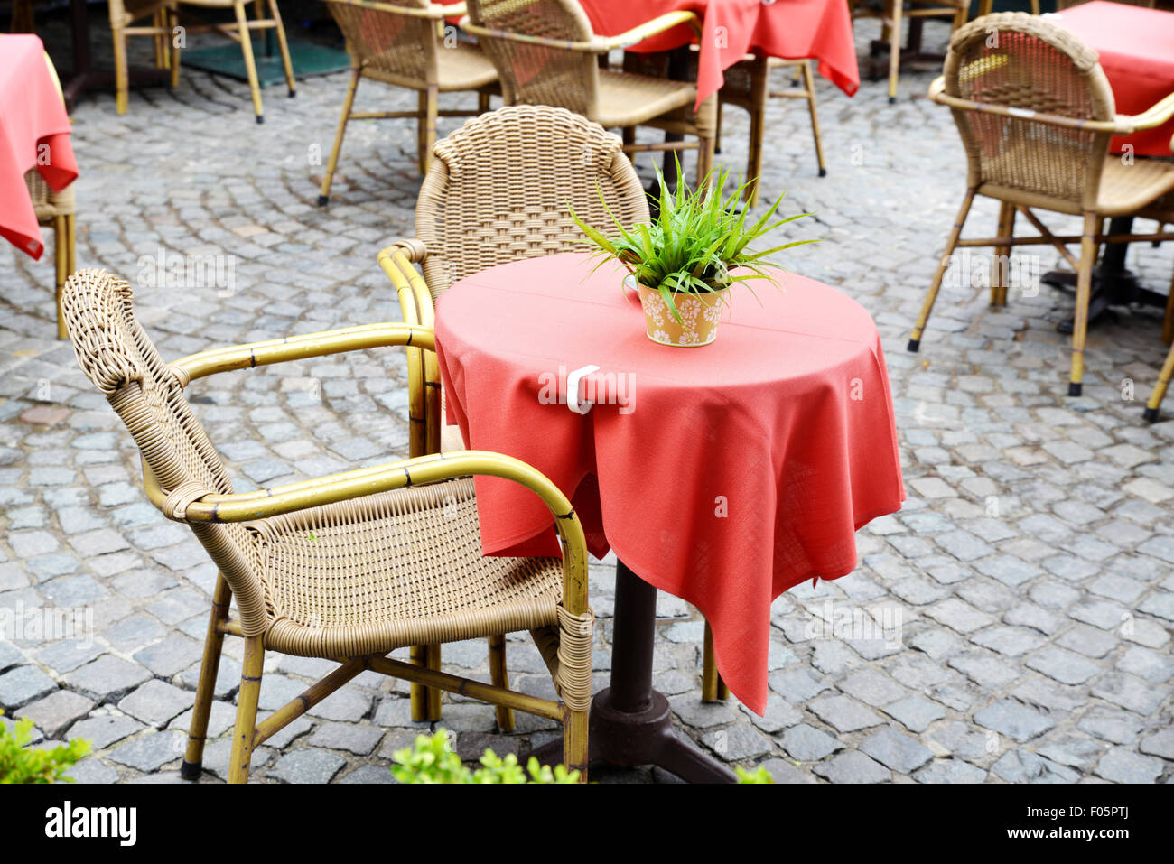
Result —
[[[1119, 114], [1140, 114], [1174, 93], [1174, 13], [1102, 0], [1050, 20], [1100, 54]], [[1114, 136], [1113, 153], [1133, 144], [1139, 156], [1169, 156], [1174, 120], [1135, 135]]]

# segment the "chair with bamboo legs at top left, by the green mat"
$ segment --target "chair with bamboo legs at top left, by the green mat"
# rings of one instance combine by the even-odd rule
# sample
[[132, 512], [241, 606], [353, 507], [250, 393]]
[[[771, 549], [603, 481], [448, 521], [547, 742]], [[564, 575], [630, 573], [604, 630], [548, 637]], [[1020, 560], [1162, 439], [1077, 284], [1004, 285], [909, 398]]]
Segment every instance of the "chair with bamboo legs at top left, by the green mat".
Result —
[[[249, 20], [245, 13], [247, 0], [110, 0], [110, 33], [114, 36], [114, 88], [115, 107], [119, 114], [126, 114], [128, 107], [129, 72], [127, 69], [127, 36], [153, 36], [155, 40], [155, 65], [171, 70], [171, 87], [180, 83], [180, 46], [174, 38], [180, 25], [180, 8], [195, 6], [208, 9], [231, 8], [236, 15], [235, 23], [184, 23], [185, 34], [216, 31], [241, 43], [244, 68], [249, 77], [249, 90], [252, 94], [252, 110], [258, 123], [263, 123], [264, 110], [261, 104], [261, 83], [257, 80], [257, 65], [252, 56], [252, 31], [276, 29], [277, 43], [282, 53], [282, 66], [285, 69], [285, 82], [290, 96], [297, 95], [294, 82], [294, 65], [290, 61], [289, 45], [285, 41], [285, 28], [277, 8], [277, 0], [268, 0], [269, 18], [261, 16], [262, 0], [256, 2], [257, 18]], [[151, 16], [151, 22], [137, 23]], [[134, 25], [134, 26], [131, 26]]]

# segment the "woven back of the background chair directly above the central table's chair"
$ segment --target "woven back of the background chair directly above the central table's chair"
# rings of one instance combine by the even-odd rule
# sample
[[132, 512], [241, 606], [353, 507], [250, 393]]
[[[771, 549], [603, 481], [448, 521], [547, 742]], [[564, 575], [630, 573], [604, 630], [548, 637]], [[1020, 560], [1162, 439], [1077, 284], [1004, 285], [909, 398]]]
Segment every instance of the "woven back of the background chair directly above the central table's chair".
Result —
[[[575, 0], [468, 0], [479, 27], [565, 42], [589, 42], [591, 21]], [[483, 35], [506, 104], [558, 104], [595, 116], [599, 61], [582, 50]]]

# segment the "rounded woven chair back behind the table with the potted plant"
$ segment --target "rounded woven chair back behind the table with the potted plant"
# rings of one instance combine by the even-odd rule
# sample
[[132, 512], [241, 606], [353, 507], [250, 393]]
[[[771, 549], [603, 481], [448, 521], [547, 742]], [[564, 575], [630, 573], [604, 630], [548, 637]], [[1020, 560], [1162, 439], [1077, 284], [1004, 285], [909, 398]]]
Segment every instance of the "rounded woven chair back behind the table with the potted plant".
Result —
[[436, 146], [416, 204], [433, 299], [495, 264], [588, 249], [571, 209], [615, 231], [648, 221], [648, 198], [620, 139], [565, 108], [506, 107]]

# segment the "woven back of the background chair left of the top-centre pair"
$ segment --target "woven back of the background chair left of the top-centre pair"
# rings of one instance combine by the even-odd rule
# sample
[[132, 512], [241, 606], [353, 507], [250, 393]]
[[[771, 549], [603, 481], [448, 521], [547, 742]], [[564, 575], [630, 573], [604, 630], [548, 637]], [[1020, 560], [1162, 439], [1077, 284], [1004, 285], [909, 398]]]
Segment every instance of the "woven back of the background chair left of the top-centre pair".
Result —
[[396, 0], [394, 6], [375, 2], [324, 0], [346, 39], [351, 63], [393, 85], [418, 87], [436, 83], [437, 52], [444, 22], [418, 18], [396, 6], [424, 9], [427, 0]]

